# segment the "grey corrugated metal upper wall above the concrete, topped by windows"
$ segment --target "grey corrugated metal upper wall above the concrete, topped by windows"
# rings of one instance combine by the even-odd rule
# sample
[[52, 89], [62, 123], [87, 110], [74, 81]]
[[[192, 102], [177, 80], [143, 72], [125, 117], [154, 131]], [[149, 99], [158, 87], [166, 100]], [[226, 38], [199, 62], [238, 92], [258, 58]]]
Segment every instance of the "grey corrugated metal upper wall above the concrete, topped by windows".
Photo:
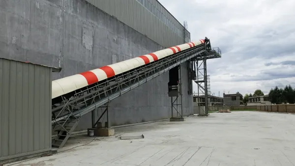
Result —
[[[161, 46], [184, 43], [183, 26], [157, 0], [87, 0]], [[190, 34], [186, 42], [189, 42]]]

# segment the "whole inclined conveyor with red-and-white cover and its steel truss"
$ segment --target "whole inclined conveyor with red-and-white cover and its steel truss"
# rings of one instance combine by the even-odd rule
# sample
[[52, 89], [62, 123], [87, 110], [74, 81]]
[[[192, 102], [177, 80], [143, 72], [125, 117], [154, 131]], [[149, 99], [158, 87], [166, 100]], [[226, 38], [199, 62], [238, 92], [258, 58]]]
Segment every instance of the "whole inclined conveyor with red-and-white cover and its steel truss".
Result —
[[52, 82], [54, 147], [62, 147], [80, 117], [192, 58], [215, 58], [209, 39], [181, 44]]

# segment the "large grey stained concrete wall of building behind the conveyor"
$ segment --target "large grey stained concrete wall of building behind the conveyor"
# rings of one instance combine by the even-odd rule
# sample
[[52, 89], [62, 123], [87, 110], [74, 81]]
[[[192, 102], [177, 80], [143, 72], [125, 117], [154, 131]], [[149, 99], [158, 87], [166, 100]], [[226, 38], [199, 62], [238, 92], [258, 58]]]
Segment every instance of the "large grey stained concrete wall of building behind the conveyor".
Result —
[[[0, 55], [61, 67], [53, 80], [164, 48], [85, 0], [0, 0], [0, 22]], [[183, 114], [188, 115], [193, 99], [186, 93], [187, 64], [182, 72]], [[167, 83], [165, 73], [112, 101], [112, 125], [169, 118]], [[90, 123], [88, 114], [77, 130]]]

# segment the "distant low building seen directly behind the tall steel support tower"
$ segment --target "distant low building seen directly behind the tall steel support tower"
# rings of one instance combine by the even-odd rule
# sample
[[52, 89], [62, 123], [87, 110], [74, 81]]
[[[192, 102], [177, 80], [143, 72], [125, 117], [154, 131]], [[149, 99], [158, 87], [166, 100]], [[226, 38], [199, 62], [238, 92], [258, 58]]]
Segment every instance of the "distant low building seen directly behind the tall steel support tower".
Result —
[[[194, 100], [194, 106], [205, 106], [205, 95], [202, 96], [193, 96]], [[217, 97], [217, 96], [212, 96], [208, 95], [208, 106], [222, 106], [223, 105], [223, 98], [222, 97]]]

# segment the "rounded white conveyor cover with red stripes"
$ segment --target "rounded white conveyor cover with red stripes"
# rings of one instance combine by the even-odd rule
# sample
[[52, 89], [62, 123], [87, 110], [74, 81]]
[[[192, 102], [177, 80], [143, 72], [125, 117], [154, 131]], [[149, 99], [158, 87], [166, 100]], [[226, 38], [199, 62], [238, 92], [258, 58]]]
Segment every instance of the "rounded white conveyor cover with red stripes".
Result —
[[201, 39], [197, 42], [181, 44], [148, 55], [141, 55], [98, 69], [54, 80], [52, 81], [52, 99], [203, 43], [205, 43], [205, 40]]

